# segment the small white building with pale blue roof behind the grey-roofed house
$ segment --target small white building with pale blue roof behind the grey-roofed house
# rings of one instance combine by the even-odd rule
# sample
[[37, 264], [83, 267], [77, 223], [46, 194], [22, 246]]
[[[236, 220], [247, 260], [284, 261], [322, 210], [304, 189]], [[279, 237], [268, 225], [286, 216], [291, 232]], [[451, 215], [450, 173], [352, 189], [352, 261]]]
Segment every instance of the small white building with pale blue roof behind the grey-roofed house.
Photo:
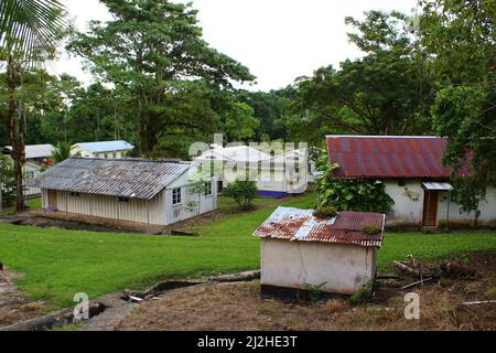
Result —
[[71, 147], [71, 156], [80, 158], [121, 159], [134, 147], [126, 141], [78, 142]]

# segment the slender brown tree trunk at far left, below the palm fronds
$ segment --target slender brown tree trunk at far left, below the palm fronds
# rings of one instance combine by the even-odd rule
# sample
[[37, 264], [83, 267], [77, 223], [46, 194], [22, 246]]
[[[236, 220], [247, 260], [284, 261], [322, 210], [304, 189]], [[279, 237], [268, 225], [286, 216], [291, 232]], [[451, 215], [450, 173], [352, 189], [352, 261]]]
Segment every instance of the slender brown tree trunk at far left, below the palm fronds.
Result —
[[15, 211], [22, 212], [25, 211], [23, 188], [24, 175], [22, 171], [22, 167], [25, 163], [25, 111], [23, 104], [15, 104], [15, 68], [12, 57], [10, 57], [8, 62], [7, 87], [9, 90], [9, 136], [12, 145], [12, 159], [15, 172]]

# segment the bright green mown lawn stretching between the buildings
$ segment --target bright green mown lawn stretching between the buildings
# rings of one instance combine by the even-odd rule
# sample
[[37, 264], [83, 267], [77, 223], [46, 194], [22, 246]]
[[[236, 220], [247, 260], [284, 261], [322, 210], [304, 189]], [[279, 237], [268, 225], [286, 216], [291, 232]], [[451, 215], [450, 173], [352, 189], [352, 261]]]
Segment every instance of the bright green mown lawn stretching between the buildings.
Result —
[[[313, 195], [285, 205], [311, 207]], [[194, 227], [200, 237], [160, 237], [14, 226], [0, 223], [0, 261], [25, 276], [19, 287], [54, 308], [72, 304], [77, 292], [91, 298], [143, 288], [165, 278], [194, 278], [259, 267], [259, 240], [251, 235], [277, 203], [248, 214], [229, 214]], [[413, 254], [440, 259], [496, 249], [496, 232], [442, 235], [388, 234], [379, 268]]]

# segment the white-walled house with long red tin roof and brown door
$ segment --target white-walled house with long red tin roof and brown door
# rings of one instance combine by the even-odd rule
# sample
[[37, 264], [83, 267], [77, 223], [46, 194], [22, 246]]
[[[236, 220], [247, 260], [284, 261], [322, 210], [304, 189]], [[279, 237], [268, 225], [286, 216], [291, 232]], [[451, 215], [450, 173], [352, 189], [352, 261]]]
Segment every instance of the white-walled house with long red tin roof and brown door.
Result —
[[[442, 157], [448, 140], [438, 137], [327, 136], [330, 161], [339, 164], [335, 178], [374, 179], [395, 201], [389, 226], [438, 227], [473, 225], [474, 213], [453, 202], [451, 171]], [[464, 168], [461, 176], [470, 174]], [[487, 188], [479, 204], [479, 225], [496, 225], [496, 189]]]

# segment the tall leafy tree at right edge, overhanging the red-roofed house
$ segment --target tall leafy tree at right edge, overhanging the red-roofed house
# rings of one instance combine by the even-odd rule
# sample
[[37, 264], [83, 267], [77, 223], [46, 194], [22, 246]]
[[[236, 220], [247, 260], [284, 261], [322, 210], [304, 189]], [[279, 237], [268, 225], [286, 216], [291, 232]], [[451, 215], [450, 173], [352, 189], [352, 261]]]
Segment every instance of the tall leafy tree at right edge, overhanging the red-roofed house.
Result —
[[456, 176], [468, 153], [473, 175], [456, 179], [456, 196], [477, 214], [496, 185], [496, 2], [423, 1], [420, 34], [440, 86], [432, 113], [449, 137], [444, 162]]

